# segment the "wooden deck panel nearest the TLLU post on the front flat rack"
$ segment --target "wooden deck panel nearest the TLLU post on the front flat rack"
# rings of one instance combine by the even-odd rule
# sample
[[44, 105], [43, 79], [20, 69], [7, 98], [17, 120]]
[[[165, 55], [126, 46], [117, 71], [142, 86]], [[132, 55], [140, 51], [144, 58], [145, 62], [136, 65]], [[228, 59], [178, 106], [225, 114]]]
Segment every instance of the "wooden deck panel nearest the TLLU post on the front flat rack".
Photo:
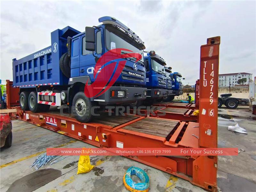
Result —
[[179, 121], [146, 117], [122, 129], [166, 138]]

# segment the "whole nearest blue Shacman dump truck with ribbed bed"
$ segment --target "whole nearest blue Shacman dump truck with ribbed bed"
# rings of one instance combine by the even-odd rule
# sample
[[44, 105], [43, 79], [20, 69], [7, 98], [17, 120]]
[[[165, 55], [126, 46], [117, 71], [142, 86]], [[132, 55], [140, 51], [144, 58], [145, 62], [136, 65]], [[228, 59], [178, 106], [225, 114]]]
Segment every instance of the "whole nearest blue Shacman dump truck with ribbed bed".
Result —
[[[146, 99], [144, 42], [113, 17], [101, 17], [99, 22], [103, 24], [85, 27], [85, 32], [69, 26], [57, 29], [51, 33], [51, 46], [12, 60], [13, 86], [20, 88], [23, 110], [48, 111], [50, 106], [66, 104], [78, 121], [89, 122], [94, 106], [104, 108], [102, 106]], [[116, 54], [119, 58], [108, 55], [101, 59], [104, 53], [119, 48], [123, 50]], [[141, 59], [135, 59], [130, 52], [142, 55]], [[97, 61], [100, 59], [108, 63], [99, 68]], [[113, 60], [117, 64], [114, 71], [109, 71], [107, 67], [115, 63]], [[125, 65], [123, 70], [117, 71], [120, 62]], [[110, 77], [115, 80], [111, 86]], [[92, 86], [96, 83], [103, 87]], [[109, 87], [104, 90], [106, 86]]]

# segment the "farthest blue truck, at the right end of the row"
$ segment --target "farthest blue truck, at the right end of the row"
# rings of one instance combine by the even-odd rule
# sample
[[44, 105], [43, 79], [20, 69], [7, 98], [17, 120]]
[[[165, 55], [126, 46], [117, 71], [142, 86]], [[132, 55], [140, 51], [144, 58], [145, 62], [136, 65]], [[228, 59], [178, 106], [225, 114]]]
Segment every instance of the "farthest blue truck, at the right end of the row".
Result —
[[174, 99], [175, 96], [179, 96], [183, 94], [183, 85], [181, 82], [182, 75], [178, 72], [174, 72], [170, 74], [171, 81], [172, 81], [172, 95], [169, 96], [168, 101], [171, 101]]

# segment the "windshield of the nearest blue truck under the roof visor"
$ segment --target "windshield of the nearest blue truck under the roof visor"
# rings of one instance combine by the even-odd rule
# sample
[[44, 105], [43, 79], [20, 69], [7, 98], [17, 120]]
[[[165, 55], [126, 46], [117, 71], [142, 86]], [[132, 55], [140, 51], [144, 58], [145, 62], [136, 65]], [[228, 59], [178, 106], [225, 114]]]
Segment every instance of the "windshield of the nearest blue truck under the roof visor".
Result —
[[[131, 39], [128, 35], [124, 34], [119, 29], [116, 29], [112, 26], [106, 27], [106, 46], [108, 50], [116, 49], [116, 48], [124, 48], [129, 49], [134, 53], [140, 53], [142, 55], [140, 59], [140, 63], [143, 64], [143, 54], [142, 48], [136, 44], [135, 41]], [[122, 53], [126, 53], [123, 51]], [[131, 53], [131, 52], [127, 52]]]

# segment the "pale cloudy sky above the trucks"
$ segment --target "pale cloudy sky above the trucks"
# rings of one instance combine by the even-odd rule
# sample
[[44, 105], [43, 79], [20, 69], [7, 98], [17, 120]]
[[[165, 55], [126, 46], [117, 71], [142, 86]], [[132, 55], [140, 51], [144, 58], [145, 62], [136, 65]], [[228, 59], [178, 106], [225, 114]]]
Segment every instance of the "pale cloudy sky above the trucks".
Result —
[[2, 1], [0, 79], [12, 80], [12, 59], [51, 45], [51, 32], [84, 31], [112, 16], [129, 26], [173, 72], [194, 84], [200, 46], [220, 36], [219, 73], [256, 76], [255, 1]]

